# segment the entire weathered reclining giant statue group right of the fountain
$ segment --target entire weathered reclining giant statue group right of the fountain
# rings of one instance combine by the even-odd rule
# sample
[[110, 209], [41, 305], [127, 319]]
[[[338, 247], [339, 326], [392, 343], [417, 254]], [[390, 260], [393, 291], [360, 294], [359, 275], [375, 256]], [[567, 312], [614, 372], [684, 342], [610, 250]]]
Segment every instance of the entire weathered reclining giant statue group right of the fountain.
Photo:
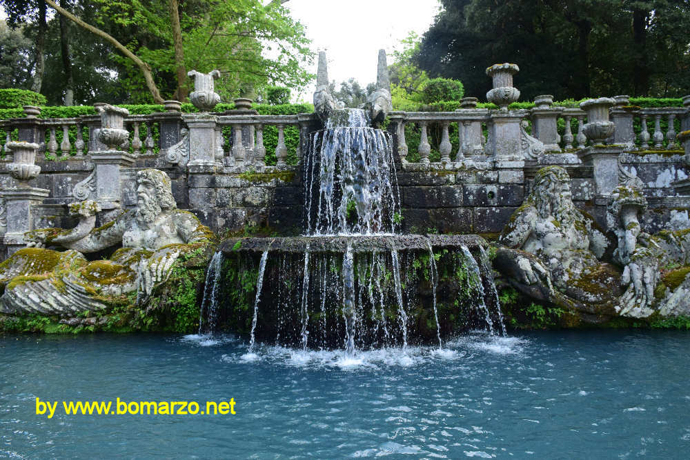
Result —
[[580, 310], [588, 321], [690, 314], [690, 230], [642, 232], [647, 201], [634, 186], [619, 186], [607, 210], [615, 267], [602, 261], [610, 242], [575, 208], [569, 181], [559, 166], [537, 172], [501, 234], [495, 268], [527, 296]]

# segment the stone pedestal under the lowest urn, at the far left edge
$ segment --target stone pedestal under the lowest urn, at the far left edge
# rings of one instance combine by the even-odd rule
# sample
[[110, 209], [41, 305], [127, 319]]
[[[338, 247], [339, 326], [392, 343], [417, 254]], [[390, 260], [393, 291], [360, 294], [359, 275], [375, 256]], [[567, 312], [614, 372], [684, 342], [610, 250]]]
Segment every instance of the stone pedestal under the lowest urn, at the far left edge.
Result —
[[0, 191], [7, 209], [7, 230], [3, 243], [7, 246], [8, 257], [23, 248], [24, 233], [33, 230], [34, 208], [48, 198], [49, 190], [34, 187], [7, 188]]

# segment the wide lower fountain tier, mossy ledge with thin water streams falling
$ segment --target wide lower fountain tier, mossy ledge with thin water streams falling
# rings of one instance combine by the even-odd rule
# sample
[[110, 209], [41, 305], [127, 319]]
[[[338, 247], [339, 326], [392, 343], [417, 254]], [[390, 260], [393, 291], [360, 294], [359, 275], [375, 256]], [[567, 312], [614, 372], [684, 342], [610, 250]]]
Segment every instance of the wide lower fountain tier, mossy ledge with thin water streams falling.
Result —
[[238, 238], [220, 251], [204, 332], [255, 324], [257, 343], [355, 350], [502, 333], [489, 250], [476, 235]]

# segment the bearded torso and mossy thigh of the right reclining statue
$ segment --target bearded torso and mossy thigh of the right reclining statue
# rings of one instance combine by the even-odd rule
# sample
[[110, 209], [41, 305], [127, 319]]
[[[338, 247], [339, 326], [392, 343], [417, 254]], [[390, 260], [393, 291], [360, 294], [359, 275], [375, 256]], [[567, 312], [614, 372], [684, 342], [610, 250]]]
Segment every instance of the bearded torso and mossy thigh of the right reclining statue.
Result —
[[614, 314], [620, 272], [600, 261], [609, 247], [595, 221], [571, 199], [560, 166], [537, 172], [534, 187], [504, 228], [495, 266], [518, 290], [542, 301], [594, 314]]

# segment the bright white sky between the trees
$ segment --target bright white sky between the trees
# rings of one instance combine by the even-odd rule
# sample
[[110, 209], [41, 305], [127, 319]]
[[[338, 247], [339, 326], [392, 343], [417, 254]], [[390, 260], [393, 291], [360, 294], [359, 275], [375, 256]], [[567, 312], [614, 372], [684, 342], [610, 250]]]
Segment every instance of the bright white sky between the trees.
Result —
[[[289, 0], [293, 19], [306, 28], [312, 49], [326, 51], [328, 79], [376, 81], [378, 50], [391, 52], [413, 30], [423, 34], [440, 8], [438, 0]], [[314, 63], [316, 66], [316, 63]], [[316, 73], [316, 68], [311, 70]], [[311, 101], [313, 86], [302, 99]]]

